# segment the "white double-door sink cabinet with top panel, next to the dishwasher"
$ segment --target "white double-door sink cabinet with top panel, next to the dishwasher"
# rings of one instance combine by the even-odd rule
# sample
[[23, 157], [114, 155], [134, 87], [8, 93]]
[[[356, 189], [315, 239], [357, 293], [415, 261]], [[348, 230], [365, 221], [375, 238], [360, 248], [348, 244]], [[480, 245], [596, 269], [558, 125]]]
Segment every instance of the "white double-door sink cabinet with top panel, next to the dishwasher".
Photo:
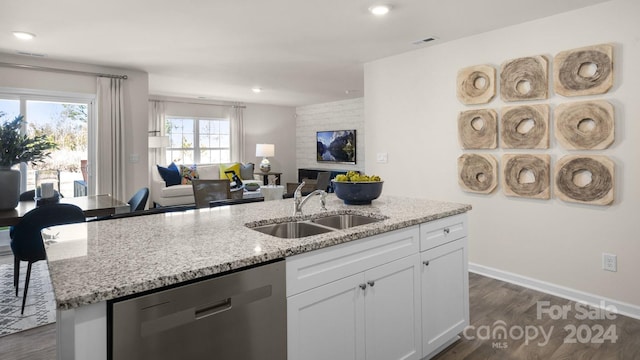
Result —
[[[287, 273], [302, 283], [315, 284], [325, 271], [356, 272], [288, 296], [288, 359], [420, 359], [418, 234], [414, 226], [291, 258]], [[398, 258], [407, 247], [413, 254]], [[378, 266], [372, 258], [381, 260]]]

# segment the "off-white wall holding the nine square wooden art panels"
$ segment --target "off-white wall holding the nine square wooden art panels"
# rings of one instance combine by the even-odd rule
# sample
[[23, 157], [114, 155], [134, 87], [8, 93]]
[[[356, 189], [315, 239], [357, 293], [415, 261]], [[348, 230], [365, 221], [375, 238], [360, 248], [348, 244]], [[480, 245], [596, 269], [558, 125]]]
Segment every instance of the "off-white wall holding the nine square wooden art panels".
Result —
[[[640, 2], [600, 5], [479, 34], [375, 61], [365, 66], [366, 171], [380, 174], [385, 193], [470, 203], [470, 261], [555, 285], [640, 306]], [[437, 35], [437, 34], [435, 34]], [[615, 106], [616, 140], [590, 152], [616, 163], [611, 206], [463, 192], [457, 183], [457, 115], [470, 107], [456, 98], [459, 69], [508, 59], [613, 43], [615, 84], [601, 96]], [[550, 62], [550, 71], [552, 71]], [[499, 73], [499, 71], [498, 71]], [[499, 110], [494, 99], [486, 107]], [[553, 121], [553, 119], [552, 119]], [[389, 162], [375, 162], [379, 152]], [[498, 158], [502, 150], [486, 151]], [[523, 151], [520, 151], [523, 152]], [[526, 152], [526, 151], [525, 151]], [[552, 166], [563, 150], [551, 135]], [[601, 254], [618, 255], [618, 272], [601, 269]]]

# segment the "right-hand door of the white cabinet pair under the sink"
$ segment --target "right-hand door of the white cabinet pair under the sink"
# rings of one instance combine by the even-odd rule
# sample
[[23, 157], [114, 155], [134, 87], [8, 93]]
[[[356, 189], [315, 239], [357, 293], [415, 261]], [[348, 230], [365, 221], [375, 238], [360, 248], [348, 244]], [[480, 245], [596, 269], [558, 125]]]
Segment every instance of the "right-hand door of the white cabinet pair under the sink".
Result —
[[365, 280], [367, 360], [420, 359], [419, 254], [367, 270]]

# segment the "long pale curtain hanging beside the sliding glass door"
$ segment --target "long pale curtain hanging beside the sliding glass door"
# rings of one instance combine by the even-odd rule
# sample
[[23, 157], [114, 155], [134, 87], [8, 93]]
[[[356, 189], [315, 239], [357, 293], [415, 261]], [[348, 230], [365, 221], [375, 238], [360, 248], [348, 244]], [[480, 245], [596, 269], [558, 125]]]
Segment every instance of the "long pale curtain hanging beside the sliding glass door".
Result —
[[127, 201], [123, 79], [98, 77], [98, 191]]

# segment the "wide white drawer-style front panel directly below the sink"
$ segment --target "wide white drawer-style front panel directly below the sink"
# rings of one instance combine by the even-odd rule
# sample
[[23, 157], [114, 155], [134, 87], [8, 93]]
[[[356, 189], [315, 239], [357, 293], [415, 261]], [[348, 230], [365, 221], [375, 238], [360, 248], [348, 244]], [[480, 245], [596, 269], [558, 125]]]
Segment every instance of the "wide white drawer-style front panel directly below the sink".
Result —
[[287, 296], [415, 254], [419, 236], [416, 225], [289, 257]]

